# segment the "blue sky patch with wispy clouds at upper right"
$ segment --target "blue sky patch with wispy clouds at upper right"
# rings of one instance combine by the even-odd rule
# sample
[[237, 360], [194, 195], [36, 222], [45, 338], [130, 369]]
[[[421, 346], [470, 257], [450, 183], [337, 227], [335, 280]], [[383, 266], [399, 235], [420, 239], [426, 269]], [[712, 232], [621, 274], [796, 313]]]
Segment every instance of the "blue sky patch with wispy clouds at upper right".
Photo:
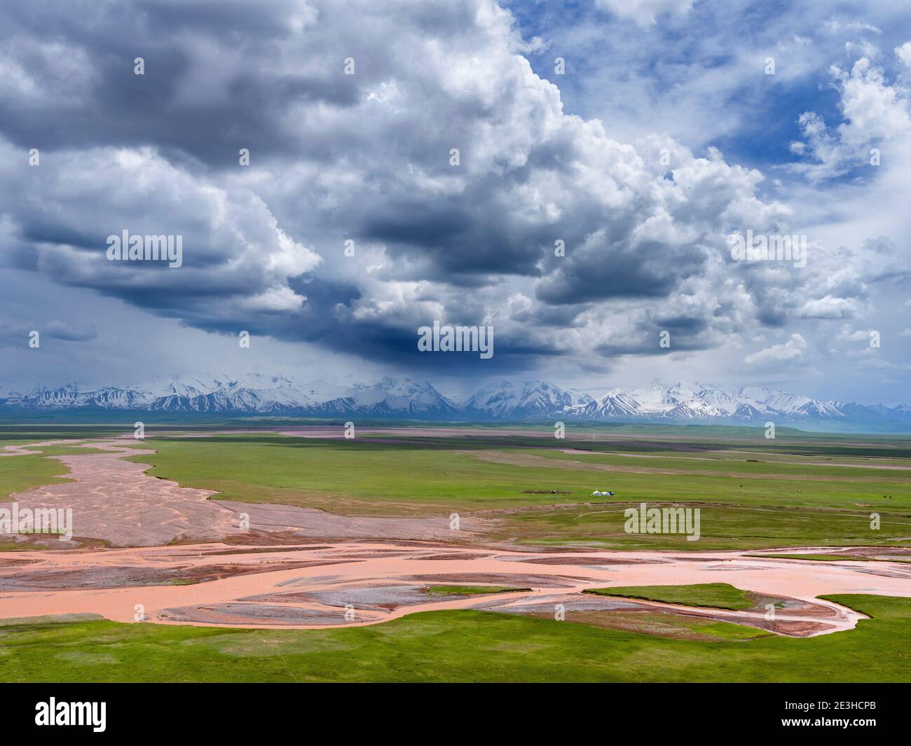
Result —
[[[599, 77], [599, 71], [605, 68], [611, 68], [614, 76], [627, 86], [649, 91], [656, 106], [660, 106], [662, 91], [676, 88], [682, 91], [676, 97], [686, 95], [688, 83], [696, 77], [694, 70], [726, 77], [729, 87], [713, 102], [719, 107], [713, 112], [718, 115], [716, 128], [702, 130], [698, 138], [691, 138], [690, 123], [683, 118], [681, 128], [666, 131], [690, 139], [692, 142], [687, 144], [691, 147], [698, 143], [712, 145], [721, 148], [733, 161], [759, 169], [781, 166], [793, 159], [789, 144], [801, 137], [797, 118], [804, 111], [815, 111], [830, 122], [840, 121], [840, 96], [831, 85], [828, 64], [844, 64], [852, 58], [844, 49], [845, 44], [858, 46], [871, 40], [890, 50], [907, 41], [907, 29], [911, 25], [911, 11], [907, 9], [896, 9], [895, 15], [880, 15], [875, 5], [859, 3], [826, 4], [824, 8], [794, 2], [732, 3], [725, 4], [728, 5], [725, 14], [718, 12], [719, 5], [696, 2], [685, 15], [659, 15], [653, 24], [638, 24], [592, 2], [506, 4], [516, 16], [523, 36], [548, 39], [548, 48], [529, 54], [528, 59], [538, 76], [560, 87], [569, 113], [598, 117], [617, 107], [620, 97], [612, 96], [609, 86], [600, 85], [605, 78]], [[870, 23], [869, 29], [831, 27], [834, 23], [842, 26], [867, 23], [858, 20], [861, 18], [870, 18], [883, 26]], [[886, 18], [888, 21], [884, 23]], [[582, 36], [586, 39], [583, 45], [577, 43], [580, 28], [588, 29]], [[711, 33], [705, 33], [706, 29], [711, 29]], [[739, 76], [725, 75], [745, 50], [772, 48], [773, 40], [786, 41], [784, 29], [792, 38], [799, 36], [805, 43], [779, 57], [778, 64], [789, 66], [794, 62], [792, 54], [797, 53], [812, 67], [796, 76], [769, 80], [749, 73], [744, 75], [743, 71]], [[611, 41], [619, 36], [624, 38], [624, 45], [619, 53], [613, 53]], [[634, 50], [631, 55], [630, 50]], [[574, 74], [555, 75], [554, 55], [567, 56], [575, 68]], [[828, 64], [821, 64], [825, 60]], [[886, 58], [882, 62], [892, 75], [903, 71], [896, 59]], [[592, 79], [599, 81], [599, 90], [593, 89]], [[773, 85], [767, 85], [772, 82]], [[692, 100], [698, 101], [695, 96]], [[636, 109], [630, 108], [630, 117], [638, 119]], [[666, 110], [668, 120], [672, 121], [673, 108]], [[763, 116], [751, 116], [750, 111], [762, 112]], [[737, 126], [729, 128], [733, 122]]]

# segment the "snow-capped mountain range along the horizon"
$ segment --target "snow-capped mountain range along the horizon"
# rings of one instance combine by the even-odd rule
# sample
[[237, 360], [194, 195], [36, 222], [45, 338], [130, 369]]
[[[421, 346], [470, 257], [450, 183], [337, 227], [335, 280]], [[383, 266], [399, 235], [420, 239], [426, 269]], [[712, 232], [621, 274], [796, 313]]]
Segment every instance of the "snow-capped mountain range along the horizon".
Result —
[[430, 383], [386, 377], [379, 383], [298, 381], [252, 373], [155, 378], [125, 387], [75, 383], [28, 393], [0, 389], [0, 415], [28, 411], [128, 410], [175, 414], [282, 414], [311, 417], [368, 416], [423, 420], [568, 420], [793, 424], [814, 430], [904, 432], [911, 405], [820, 401], [795, 393], [746, 387], [726, 391], [701, 383], [653, 383], [610, 389], [598, 398], [578, 389], [528, 381], [490, 383], [465, 401]]

